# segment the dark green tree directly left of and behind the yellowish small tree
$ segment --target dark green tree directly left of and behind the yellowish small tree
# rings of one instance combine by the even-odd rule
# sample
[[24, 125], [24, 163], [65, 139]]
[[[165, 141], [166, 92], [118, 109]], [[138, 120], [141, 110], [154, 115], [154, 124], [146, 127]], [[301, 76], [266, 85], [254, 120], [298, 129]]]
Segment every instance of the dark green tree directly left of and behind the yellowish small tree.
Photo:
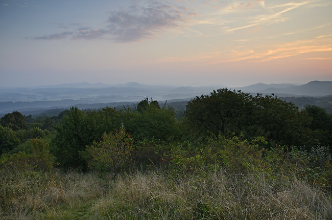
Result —
[[94, 140], [99, 140], [106, 132], [120, 126], [120, 113], [106, 107], [101, 111], [82, 111], [72, 107], [56, 126], [56, 134], [51, 141], [51, 152], [65, 168], [86, 168], [79, 151], [83, 151]]

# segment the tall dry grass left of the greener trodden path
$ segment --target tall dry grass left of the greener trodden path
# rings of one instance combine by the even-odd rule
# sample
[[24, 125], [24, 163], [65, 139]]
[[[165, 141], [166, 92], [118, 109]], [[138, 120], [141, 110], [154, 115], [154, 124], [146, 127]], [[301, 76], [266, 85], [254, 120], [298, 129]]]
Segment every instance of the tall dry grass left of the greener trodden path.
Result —
[[[5, 219], [48, 219], [44, 213], [60, 205], [96, 199], [105, 183], [94, 173], [0, 170], [0, 216]], [[58, 208], [57, 208], [58, 209]]]

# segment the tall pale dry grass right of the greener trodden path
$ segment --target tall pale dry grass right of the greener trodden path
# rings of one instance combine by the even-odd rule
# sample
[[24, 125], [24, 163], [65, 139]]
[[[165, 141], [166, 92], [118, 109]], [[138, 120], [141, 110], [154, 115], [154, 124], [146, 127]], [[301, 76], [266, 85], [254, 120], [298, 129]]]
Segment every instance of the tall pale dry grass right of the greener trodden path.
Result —
[[104, 219], [331, 219], [329, 195], [297, 178], [264, 173], [122, 175], [92, 209]]

